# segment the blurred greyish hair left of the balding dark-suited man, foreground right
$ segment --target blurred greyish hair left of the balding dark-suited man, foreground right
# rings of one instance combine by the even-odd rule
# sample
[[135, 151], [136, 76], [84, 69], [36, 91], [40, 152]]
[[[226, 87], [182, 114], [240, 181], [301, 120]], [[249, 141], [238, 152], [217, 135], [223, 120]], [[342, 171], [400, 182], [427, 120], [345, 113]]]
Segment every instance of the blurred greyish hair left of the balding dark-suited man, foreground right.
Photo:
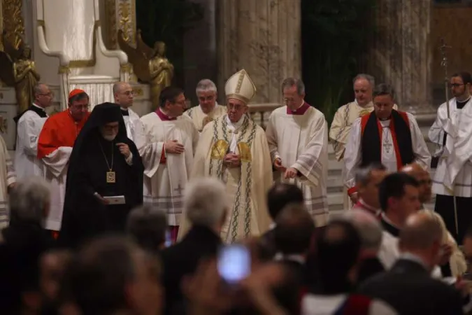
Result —
[[374, 216], [364, 210], [351, 209], [344, 211], [341, 216], [336, 218], [354, 225], [361, 237], [362, 248], [378, 251], [380, 244], [382, 244], [382, 227]]

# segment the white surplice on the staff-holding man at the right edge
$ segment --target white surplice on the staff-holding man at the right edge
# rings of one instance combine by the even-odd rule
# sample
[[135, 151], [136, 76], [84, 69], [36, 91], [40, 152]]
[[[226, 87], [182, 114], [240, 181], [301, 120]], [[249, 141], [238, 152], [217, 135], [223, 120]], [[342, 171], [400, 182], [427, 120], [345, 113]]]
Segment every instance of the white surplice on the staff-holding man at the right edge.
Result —
[[[472, 99], [457, 109], [456, 99], [449, 102], [450, 119], [446, 103], [438, 108], [436, 121], [429, 129], [429, 139], [438, 145], [433, 154], [439, 157], [433, 179], [433, 193], [472, 197]], [[445, 134], [446, 143], [443, 146]]]

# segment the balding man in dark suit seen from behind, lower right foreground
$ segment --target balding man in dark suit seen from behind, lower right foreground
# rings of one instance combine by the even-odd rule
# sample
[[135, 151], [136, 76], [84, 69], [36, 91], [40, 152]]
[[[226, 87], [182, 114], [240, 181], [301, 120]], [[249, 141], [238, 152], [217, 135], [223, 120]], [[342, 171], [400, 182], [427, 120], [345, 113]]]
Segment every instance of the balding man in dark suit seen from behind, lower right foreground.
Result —
[[374, 276], [359, 292], [390, 304], [399, 314], [463, 314], [454, 286], [431, 278], [438, 262], [441, 225], [424, 213], [411, 215], [400, 232], [401, 256], [392, 269]]

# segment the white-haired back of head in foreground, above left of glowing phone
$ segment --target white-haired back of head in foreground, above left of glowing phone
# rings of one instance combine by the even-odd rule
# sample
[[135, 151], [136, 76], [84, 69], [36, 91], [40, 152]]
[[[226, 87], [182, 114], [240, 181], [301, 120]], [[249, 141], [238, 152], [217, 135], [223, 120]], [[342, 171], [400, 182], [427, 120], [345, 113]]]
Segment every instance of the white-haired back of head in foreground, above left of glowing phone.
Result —
[[213, 228], [228, 209], [224, 184], [213, 177], [190, 181], [185, 188], [184, 213], [190, 222]]

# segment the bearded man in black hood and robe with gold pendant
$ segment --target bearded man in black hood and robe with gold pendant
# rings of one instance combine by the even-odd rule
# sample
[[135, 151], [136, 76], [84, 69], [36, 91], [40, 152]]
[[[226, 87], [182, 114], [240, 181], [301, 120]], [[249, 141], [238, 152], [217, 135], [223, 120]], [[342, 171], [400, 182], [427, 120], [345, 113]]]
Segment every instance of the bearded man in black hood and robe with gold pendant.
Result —
[[120, 106], [94, 106], [73, 146], [59, 244], [76, 248], [105, 232], [124, 233], [143, 203], [143, 162], [127, 137]]

